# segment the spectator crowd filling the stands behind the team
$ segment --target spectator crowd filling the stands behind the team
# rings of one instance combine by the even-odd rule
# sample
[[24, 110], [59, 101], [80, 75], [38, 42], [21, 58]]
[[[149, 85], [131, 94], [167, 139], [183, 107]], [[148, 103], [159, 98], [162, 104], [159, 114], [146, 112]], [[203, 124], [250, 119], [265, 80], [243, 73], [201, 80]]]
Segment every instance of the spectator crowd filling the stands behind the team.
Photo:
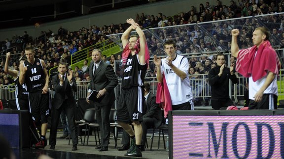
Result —
[[[145, 34], [151, 57], [154, 55], [165, 55], [163, 43], [166, 40], [174, 40], [177, 44], [177, 54], [188, 56], [190, 78], [199, 79], [199, 74], [206, 75], [211, 68], [215, 67], [215, 59], [210, 52], [230, 50], [231, 30], [233, 28], [241, 30], [240, 40], [238, 41], [240, 49], [253, 45], [251, 40], [252, 32], [255, 27], [259, 27], [261, 24], [265, 24], [266, 27], [271, 29], [271, 34], [273, 35], [271, 39], [272, 44], [274, 46], [283, 46], [284, 14], [265, 16], [265, 14], [281, 13], [283, 8], [284, 0], [231, 0], [229, 6], [222, 5], [220, 0], [216, 0], [215, 4], [206, 2], [205, 4], [200, 3], [199, 6], [191, 6], [188, 11], [182, 11], [177, 15], [158, 13], [158, 15], [154, 16], [146, 13], [137, 13], [134, 20], [144, 29], [155, 28], [153, 31], [156, 36]], [[243, 18], [231, 20], [232, 18], [256, 15], [264, 16], [259, 19]], [[188, 25], [199, 23], [201, 25]], [[5, 41], [0, 42], [0, 55], [2, 56], [0, 85], [5, 87], [13, 83], [12, 78], [3, 71], [3, 61], [7, 52], [12, 54], [9, 61], [10, 69], [17, 70], [19, 67], [18, 59], [24, 55], [23, 49], [26, 46], [34, 46], [36, 48], [36, 58], [44, 60], [47, 70], [49, 70], [56, 67], [60, 61], [71, 64], [71, 56], [78, 51], [106, 42], [108, 38], [120, 38], [120, 33], [123, 33], [125, 28], [127, 28], [127, 24], [110, 24], [109, 26], [101, 27], [92, 25], [82, 27], [76, 31], [59, 27], [57, 32], [52, 32], [51, 30], [41, 31], [36, 38], [30, 37], [26, 31], [22, 36], [14, 35], [11, 40], [6, 38]], [[110, 43], [110, 40], [107, 43]], [[108, 59], [105, 56], [103, 60], [115, 67], [118, 77], [121, 76], [120, 54], [112, 54]], [[117, 61], [116, 66], [115, 60]], [[75, 67], [74, 76], [76, 81], [89, 78], [87, 74], [88, 62], [88, 60], [82, 61], [82, 68]], [[227, 62], [229, 63], [229, 61]], [[146, 77], [154, 77], [155, 71], [155, 64], [150, 62]], [[200, 90], [208, 87], [208, 85], [199, 81], [196, 82], [193, 83], [196, 89]], [[199, 94], [201, 92], [197, 90], [196, 93]]]

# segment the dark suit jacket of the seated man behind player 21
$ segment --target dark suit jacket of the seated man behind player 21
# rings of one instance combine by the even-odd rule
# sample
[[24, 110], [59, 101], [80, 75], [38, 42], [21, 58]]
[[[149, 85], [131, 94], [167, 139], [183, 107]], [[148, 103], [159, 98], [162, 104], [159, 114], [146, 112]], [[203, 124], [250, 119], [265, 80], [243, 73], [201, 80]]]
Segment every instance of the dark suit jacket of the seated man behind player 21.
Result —
[[143, 118], [149, 117], [149, 118], [155, 118], [157, 122], [155, 122], [155, 127], [159, 127], [162, 122], [162, 114], [161, 114], [161, 108], [160, 106], [156, 103], [156, 96], [150, 93], [147, 97], [147, 102], [146, 102], [146, 111], [145, 114], [143, 115]]

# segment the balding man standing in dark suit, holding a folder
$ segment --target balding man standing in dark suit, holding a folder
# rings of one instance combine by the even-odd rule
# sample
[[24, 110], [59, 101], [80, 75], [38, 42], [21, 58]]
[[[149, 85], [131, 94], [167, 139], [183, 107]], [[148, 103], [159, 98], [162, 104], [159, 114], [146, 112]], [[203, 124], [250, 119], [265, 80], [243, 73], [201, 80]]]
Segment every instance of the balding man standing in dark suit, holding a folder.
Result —
[[[97, 122], [101, 129], [101, 145], [96, 147], [99, 151], [107, 151], [109, 142], [109, 113], [111, 105], [115, 101], [114, 87], [118, 84], [118, 79], [112, 67], [102, 60], [102, 51], [94, 49], [92, 52], [92, 62], [89, 67], [90, 85], [88, 87], [89, 95], [92, 90], [98, 91], [97, 98], [101, 102], [94, 102]], [[89, 103], [90, 101], [86, 99]]]

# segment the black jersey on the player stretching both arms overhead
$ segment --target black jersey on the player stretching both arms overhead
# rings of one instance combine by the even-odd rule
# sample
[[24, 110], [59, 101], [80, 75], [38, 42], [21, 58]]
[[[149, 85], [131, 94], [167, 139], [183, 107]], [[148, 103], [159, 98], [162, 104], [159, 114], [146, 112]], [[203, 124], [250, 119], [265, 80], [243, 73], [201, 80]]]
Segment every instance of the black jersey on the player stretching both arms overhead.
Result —
[[141, 65], [138, 55], [130, 54], [124, 66], [122, 89], [129, 89], [133, 86], [142, 86], [144, 83], [147, 64]]

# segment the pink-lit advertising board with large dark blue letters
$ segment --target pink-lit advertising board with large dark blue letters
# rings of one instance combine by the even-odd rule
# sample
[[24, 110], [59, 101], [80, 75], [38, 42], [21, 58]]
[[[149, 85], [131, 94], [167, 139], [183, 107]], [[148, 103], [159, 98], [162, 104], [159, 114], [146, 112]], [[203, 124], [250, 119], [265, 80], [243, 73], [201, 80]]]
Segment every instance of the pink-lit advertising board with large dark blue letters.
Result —
[[284, 115], [173, 115], [174, 159], [284, 159]]

